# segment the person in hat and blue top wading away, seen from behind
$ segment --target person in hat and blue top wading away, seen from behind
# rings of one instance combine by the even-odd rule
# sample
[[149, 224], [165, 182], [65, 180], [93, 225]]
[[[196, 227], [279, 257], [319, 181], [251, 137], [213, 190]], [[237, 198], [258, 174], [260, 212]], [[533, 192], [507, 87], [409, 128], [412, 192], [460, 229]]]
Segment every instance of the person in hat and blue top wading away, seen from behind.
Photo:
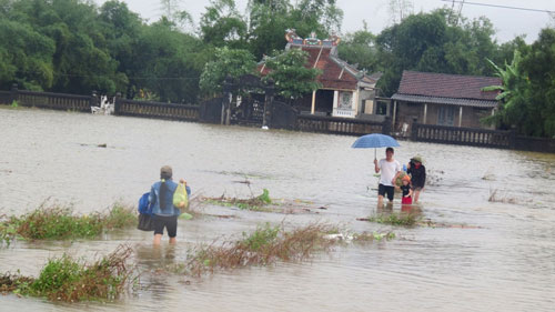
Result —
[[[180, 183], [185, 183], [183, 179]], [[172, 168], [164, 165], [160, 169], [160, 181], [152, 184], [149, 202], [152, 205], [152, 220], [154, 223], [154, 244], [159, 245], [164, 233], [164, 228], [170, 236], [170, 243], [175, 243], [178, 234], [178, 217], [181, 211], [173, 205], [173, 193], [178, 183], [172, 180]]]

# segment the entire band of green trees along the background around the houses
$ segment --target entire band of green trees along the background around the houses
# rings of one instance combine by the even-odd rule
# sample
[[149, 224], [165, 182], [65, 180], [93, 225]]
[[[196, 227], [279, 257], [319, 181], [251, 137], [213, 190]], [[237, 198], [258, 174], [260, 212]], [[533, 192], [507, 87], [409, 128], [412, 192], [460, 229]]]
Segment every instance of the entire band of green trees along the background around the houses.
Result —
[[[100, 7], [85, 0], [0, 1], [0, 89], [17, 83], [27, 90], [95, 90], [196, 103], [220, 95], [225, 77], [255, 73], [255, 62], [263, 59], [276, 95], [286, 101], [317, 88], [317, 70], [301, 66], [301, 51], [284, 49], [284, 34], [287, 29], [301, 38], [312, 31], [320, 39], [339, 33], [343, 11], [337, 1], [249, 1], [244, 13], [235, 2], [211, 1], [200, 24], [189, 27], [190, 13], [168, 1], [163, 16], [151, 23], [119, 0]], [[532, 44], [521, 37], [498, 44], [487, 18], [470, 20], [447, 8], [402, 11], [380, 33], [363, 24], [337, 47], [341, 59], [366, 73], [383, 73], [380, 95], [396, 92], [403, 70], [503, 76], [518, 63], [504, 79], [497, 115], [487, 122], [521, 134], [555, 135], [555, 69], [545, 66], [555, 60], [553, 28], [543, 29]], [[513, 61], [515, 51], [519, 62]]]

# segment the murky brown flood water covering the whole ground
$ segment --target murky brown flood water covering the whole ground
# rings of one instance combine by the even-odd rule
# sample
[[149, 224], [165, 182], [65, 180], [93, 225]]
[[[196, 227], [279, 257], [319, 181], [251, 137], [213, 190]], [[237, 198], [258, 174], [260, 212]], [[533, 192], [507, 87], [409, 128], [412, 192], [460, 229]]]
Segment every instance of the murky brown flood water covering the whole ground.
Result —
[[[422, 213], [437, 223], [413, 229], [356, 221], [376, 212], [374, 150], [356, 138], [220, 127], [47, 110], [0, 109], [0, 214], [44, 201], [78, 213], [135, 203], [173, 167], [193, 195], [312, 202], [312, 212], [282, 214], [196, 207], [210, 214], [180, 220], [178, 244], [155, 251], [152, 233], [134, 229], [97, 240], [18, 241], [0, 248], [0, 272], [38, 275], [64, 252], [84, 260], [122, 243], [141, 270], [179, 263], [186, 250], [240, 238], [256, 224], [314, 221], [351, 231], [393, 230], [397, 238], [347, 244], [310, 262], [219, 272], [201, 280], [145, 273], [140, 289], [115, 303], [54, 304], [0, 298], [2, 311], [554, 311], [555, 155], [401, 141], [402, 163], [420, 153], [430, 183]], [[98, 144], [107, 144], [99, 148]], [[384, 150], [379, 149], [379, 158]], [[250, 181], [250, 188], [241, 181]], [[370, 190], [369, 190], [370, 189]], [[502, 201], [488, 201], [492, 192]], [[252, 193], [251, 193], [252, 192]], [[398, 200], [393, 207], [398, 211]], [[317, 213], [316, 213], [317, 212]]]

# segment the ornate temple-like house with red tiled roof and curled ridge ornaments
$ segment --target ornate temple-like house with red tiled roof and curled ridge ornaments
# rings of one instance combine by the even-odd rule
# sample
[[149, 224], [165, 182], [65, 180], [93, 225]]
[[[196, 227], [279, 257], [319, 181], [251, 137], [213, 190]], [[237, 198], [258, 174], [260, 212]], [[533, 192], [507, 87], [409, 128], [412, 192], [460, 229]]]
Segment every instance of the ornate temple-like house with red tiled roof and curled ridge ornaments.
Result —
[[[303, 39], [296, 36], [294, 30], [289, 30], [285, 39], [285, 50], [302, 49], [309, 53], [305, 67], [322, 71], [317, 77], [322, 87], [295, 102], [301, 113], [342, 118], [373, 113], [375, 84], [381, 73], [367, 76], [341, 60], [337, 57], [337, 44], [341, 41], [339, 37], [320, 40], [312, 33], [310, 38]], [[261, 76], [269, 72], [264, 61], [259, 63], [258, 70]]]

